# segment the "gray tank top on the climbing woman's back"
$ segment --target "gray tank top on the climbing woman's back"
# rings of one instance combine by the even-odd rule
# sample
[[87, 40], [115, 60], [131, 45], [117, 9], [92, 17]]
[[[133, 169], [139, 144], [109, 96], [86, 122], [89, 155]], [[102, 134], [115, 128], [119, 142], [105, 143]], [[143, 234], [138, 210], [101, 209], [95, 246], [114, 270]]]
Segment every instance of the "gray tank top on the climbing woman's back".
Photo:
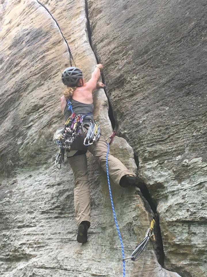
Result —
[[[72, 110], [76, 115], [86, 115], [87, 113], [93, 112], [93, 104], [82, 103], [74, 100], [72, 97], [70, 98], [70, 102], [72, 103]], [[68, 104], [66, 104], [64, 109], [65, 121], [71, 114], [71, 111], [68, 111]], [[93, 120], [93, 115], [86, 115], [83, 122], [90, 122], [90, 120]]]

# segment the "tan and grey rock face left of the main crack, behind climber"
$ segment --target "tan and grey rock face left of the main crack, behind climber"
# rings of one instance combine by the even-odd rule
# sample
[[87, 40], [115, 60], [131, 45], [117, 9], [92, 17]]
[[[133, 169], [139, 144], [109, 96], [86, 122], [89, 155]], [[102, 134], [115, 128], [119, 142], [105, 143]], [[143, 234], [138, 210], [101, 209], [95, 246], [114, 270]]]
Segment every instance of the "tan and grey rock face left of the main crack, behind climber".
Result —
[[[84, 1], [44, 1], [68, 41], [86, 79], [96, 64]], [[0, 274], [19, 276], [121, 276], [121, 250], [112, 218], [106, 175], [88, 155], [92, 225], [89, 242], [76, 242], [72, 172], [54, 165], [53, 132], [63, 124], [60, 73], [70, 65], [68, 46], [38, 1], [7, 1], [1, 9], [1, 218]], [[72, 24], [70, 24], [72, 23]], [[76, 28], [74, 29], [74, 26]], [[103, 134], [112, 129], [102, 89], [94, 95], [94, 117]], [[132, 148], [116, 138], [112, 152], [136, 170]], [[133, 188], [112, 184], [126, 255], [143, 238], [150, 214]], [[177, 277], [158, 264], [149, 245], [127, 276]]]

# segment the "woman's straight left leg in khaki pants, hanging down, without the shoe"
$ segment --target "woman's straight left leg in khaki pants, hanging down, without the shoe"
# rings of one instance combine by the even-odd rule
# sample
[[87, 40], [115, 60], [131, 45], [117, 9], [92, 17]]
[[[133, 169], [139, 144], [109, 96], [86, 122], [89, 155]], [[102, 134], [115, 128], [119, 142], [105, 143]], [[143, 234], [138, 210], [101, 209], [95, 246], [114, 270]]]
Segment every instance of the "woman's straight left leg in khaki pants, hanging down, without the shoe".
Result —
[[88, 221], [90, 227], [90, 188], [88, 180], [87, 158], [86, 154], [77, 155], [68, 158], [69, 164], [74, 176], [74, 205], [76, 223]]

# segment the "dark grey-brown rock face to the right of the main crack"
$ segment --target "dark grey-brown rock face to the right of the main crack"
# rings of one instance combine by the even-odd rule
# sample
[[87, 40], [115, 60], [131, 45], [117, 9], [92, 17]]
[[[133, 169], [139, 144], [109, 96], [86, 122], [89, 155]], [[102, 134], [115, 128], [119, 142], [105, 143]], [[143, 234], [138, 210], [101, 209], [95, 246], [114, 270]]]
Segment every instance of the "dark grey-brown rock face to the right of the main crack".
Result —
[[116, 130], [158, 204], [164, 266], [206, 276], [206, 1], [88, 1]]

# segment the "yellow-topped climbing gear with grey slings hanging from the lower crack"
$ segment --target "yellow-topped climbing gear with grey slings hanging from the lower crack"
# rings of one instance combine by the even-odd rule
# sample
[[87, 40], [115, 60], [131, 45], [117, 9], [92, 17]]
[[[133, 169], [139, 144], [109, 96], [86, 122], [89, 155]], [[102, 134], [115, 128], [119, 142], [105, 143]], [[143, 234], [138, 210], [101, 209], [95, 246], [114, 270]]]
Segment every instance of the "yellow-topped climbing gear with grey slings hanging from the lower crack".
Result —
[[155, 241], [154, 224], [155, 224], [155, 220], [153, 218], [150, 223], [150, 228], [147, 229], [145, 238], [142, 240], [142, 242], [140, 242], [139, 245], [136, 246], [135, 250], [132, 252], [130, 257], [124, 258], [122, 260], [131, 259], [132, 261], [138, 261], [139, 259], [141, 259], [144, 252], [147, 249], [147, 244], [149, 239], [151, 239], [152, 241]]

